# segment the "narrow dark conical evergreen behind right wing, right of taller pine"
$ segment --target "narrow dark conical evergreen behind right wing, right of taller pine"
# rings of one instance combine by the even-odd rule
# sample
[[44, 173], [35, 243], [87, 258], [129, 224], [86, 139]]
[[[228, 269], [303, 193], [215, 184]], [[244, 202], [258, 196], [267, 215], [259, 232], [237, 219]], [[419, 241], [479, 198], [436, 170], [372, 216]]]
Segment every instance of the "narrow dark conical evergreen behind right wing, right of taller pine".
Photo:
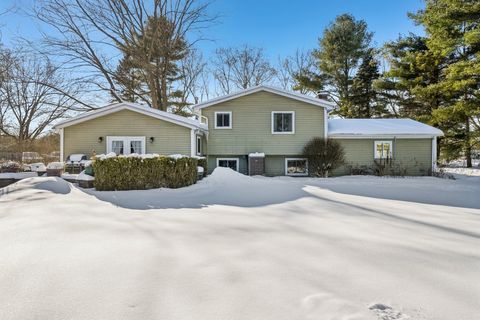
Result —
[[352, 118], [378, 118], [385, 114], [381, 104], [377, 103], [377, 92], [373, 83], [380, 77], [378, 61], [371, 49], [362, 59], [357, 74], [352, 84], [352, 106], [349, 117]]

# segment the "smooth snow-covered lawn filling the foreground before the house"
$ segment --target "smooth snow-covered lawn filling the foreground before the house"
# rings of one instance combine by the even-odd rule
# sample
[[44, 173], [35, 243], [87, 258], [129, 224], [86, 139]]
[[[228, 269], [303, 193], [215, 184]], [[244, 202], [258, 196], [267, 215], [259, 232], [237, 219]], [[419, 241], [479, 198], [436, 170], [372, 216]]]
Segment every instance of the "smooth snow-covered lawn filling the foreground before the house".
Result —
[[0, 190], [1, 319], [431, 319], [480, 310], [480, 178]]

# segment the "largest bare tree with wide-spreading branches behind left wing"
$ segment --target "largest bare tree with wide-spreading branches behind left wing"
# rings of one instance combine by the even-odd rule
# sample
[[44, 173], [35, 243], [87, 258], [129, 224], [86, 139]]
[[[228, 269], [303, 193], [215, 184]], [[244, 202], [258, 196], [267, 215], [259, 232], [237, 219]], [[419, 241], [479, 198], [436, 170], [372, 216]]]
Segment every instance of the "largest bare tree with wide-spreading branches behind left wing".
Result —
[[[147, 84], [137, 96], [166, 110], [166, 91], [176, 80], [166, 68], [176, 61], [169, 49], [187, 35], [189, 47], [203, 39], [202, 30], [217, 18], [210, 15], [209, 5], [199, 0], [40, 0], [35, 15], [56, 30], [44, 34], [46, 51], [62, 57], [72, 70], [82, 70], [86, 82], [108, 92], [114, 101], [122, 101], [115, 79], [118, 62], [135, 52], [135, 67], [141, 69]], [[162, 21], [168, 22], [168, 28]], [[163, 48], [158, 48], [158, 42], [146, 45], [147, 35]], [[134, 50], [139, 47], [143, 50]], [[152, 63], [159, 50], [165, 50], [161, 63]]]

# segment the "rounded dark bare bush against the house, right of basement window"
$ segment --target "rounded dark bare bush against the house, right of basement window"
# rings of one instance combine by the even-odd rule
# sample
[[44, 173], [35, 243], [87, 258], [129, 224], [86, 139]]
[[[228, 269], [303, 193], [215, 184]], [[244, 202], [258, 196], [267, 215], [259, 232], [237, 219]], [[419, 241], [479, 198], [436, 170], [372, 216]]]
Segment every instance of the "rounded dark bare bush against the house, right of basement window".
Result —
[[308, 159], [310, 174], [316, 177], [328, 177], [345, 162], [343, 147], [332, 139], [313, 138], [303, 148], [303, 155]]

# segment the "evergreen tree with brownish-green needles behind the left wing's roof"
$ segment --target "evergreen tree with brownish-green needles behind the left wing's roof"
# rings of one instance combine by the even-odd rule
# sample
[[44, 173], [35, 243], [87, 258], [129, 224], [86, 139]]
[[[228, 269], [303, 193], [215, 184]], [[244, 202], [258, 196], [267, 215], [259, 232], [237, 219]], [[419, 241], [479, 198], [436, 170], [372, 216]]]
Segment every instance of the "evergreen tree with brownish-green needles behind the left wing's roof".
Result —
[[173, 23], [163, 16], [150, 17], [136, 41], [122, 48], [124, 57], [115, 79], [122, 85], [124, 97], [181, 113], [185, 103], [179, 102], [182, 94], [174, 84], [181, 79], [178, 63], [187, 50], [186, 40], [176, 36]]

